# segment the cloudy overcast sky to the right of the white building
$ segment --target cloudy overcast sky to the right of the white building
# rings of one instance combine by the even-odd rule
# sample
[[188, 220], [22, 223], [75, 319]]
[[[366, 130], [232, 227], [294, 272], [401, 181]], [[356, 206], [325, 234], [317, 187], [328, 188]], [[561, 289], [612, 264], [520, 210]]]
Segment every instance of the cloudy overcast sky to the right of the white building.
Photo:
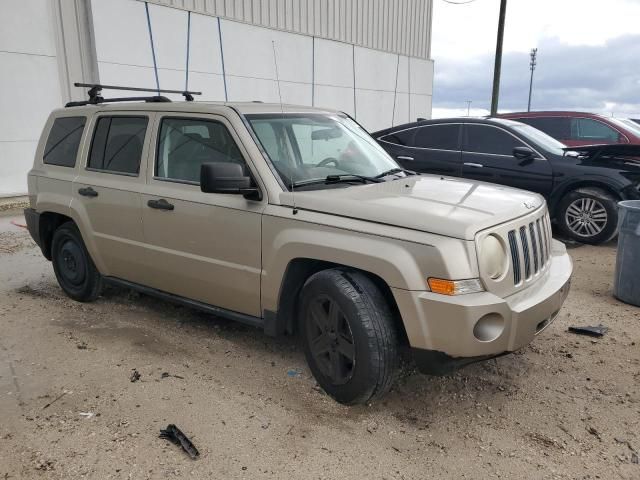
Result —
[[[488, 113], [499, 7], [434, 0], [434, 118]], [[508, 0], [499, 111], [527, 109], [534, 47], [532, 110], [640, 118], [640, 0]]]

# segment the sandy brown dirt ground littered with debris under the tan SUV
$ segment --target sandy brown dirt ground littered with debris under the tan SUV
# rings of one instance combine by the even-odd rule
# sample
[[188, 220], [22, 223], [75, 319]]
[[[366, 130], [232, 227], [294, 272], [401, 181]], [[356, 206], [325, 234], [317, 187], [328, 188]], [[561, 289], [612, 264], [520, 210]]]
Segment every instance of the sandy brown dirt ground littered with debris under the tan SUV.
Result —
[[[294, 339], [125, 290], [68, 299], [12, 220], [0, 217], [0, 479], [640, 479], [640, 308], [611, 295], [615, 244], [570, 250], [567, 303], [523, 351], [407, 373], [382, 401], [343, 407]], [[567, 332], [600, 323], [602, 339]], [[168, 423], [198, 460], [158, 438]]]

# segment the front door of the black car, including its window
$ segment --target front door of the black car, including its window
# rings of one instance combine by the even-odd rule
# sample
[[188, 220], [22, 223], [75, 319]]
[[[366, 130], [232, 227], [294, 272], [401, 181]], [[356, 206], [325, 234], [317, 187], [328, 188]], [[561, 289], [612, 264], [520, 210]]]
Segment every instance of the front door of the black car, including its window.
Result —
[[[518, 160], [515, 147], [534, 150], [533, 158]], [[462, 142], [462, 176], [522, 188], [547, 196], [553, 173], [549, 162], [511, 132], [482, 124], [465, 124]]]

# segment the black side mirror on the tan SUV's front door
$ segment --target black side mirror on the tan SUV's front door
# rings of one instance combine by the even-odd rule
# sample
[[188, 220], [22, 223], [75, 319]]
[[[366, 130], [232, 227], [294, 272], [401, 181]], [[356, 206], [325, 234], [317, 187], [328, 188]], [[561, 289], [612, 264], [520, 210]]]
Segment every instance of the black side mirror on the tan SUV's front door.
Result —
[[260, 198], [260, 190], [251, 186], [251, 177], [244, 175], [242, 166], [231, 162], [203, 163], [200, 166], [200, 190]]

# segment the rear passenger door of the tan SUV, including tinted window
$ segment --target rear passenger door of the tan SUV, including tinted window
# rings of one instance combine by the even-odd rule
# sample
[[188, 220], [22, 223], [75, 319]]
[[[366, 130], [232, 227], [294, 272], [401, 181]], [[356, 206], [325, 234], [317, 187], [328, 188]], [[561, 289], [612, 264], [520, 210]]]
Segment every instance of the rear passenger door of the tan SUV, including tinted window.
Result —
[[145, 183], [151, 116], [96, 115], [91, 143], [73, 182], [72, 211], [100, 273], [145, 283], [141, 190]]

